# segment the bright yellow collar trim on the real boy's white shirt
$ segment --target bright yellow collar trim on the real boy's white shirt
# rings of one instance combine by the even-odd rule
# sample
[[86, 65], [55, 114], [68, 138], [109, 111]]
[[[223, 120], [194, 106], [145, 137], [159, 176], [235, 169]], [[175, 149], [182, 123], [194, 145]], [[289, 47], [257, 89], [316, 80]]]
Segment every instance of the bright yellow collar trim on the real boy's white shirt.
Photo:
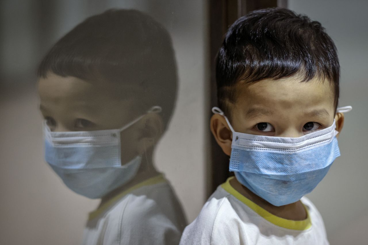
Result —
[[309, 212], [307, 207], [303, 204], [305, 210], [307, 211], [307, 219], [305, 220], [287, 220], [283, 219], [281, 217], [278, 217], [267, 210], [263, 209], [262, 207], [256, 205], [254, 202], [252, 202], [250, 199], [246, 198], [245, 196], [241, 195], [236, 189], [234, 189], [230, 185], [230, 180], [234, 177], [230, 177], [226, 180], [225, 183], [221, 185], [221, 187], [229, 192], [231, 195], [235, 196], [238, 200], [243, 202], [245, 205], [250, 207], [254, 212], [258, 213], [261, 217], [266, 219], [272, 224], [275, 224], [276, 226], [280, 226], [283, 228], [291, 229], [291, 230], [308, 230], [311, 226], [311, 218], [309, 216]]

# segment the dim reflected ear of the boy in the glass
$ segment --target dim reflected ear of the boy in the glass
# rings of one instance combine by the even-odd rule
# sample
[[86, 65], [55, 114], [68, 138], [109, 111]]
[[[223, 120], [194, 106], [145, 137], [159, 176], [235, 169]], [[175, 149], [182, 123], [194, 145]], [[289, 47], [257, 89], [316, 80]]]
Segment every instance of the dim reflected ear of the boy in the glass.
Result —
[[163, 120], [158, 113], [148, 113], [141, 119], [141, 136], [138, 139], [137, 151], [143, 154], [156, 145], [163, 134]]

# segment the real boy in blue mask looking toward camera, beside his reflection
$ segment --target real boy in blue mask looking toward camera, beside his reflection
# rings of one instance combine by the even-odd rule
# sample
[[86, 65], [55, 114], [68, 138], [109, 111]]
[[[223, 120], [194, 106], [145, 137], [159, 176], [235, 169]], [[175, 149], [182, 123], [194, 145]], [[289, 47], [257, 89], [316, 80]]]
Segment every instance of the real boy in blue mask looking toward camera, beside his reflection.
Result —
[[[303, 197], [340, 155], [339, 61], [319, 22], [269, 8], [239, 18], [217, 56], [210, 121], [230, 177], [185, 228], [186, 244], [328, 244]], [[223, 111], [222, 111], [223, 110]]]

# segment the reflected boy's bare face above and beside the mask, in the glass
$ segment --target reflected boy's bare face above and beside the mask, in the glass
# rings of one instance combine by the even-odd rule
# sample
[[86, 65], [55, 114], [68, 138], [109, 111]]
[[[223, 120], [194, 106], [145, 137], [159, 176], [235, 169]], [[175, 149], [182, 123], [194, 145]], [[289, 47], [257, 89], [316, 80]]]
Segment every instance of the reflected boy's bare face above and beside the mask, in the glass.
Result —
[[[49, 73], [39, 79], [38, 92], [42, 115], [55, 132], [118, 129], [141, 116], [131, 98], [119, 98], [116, 88], [106, 84]], [[121, 132], [122, 163], [152, 144], [152, 139], [142, 133], [147, 131], [145, 127], [142, 118]]]

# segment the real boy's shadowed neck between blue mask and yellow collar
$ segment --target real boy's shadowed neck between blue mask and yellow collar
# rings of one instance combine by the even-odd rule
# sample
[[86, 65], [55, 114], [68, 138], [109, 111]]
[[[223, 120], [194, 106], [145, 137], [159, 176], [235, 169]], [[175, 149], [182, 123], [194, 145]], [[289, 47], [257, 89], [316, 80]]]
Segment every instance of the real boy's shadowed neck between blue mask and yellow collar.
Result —
[[273, 215], [288, 219], [288, 220], [305, 220], [307, 219], [307, 211], [305, 210], [304, 206], [302, 205], [301, 201], [297, 201], [294, 203], [290, 203], [284, 206], [274, 206], [271, 203], [267, 202], [266, 200], [260, 198], [259, 196], [255, 195], [251, 192], [248, 188], [244, 185], [240, 184], [240, 182], [236, 178], [232, 178], [230, 180], [230, 185], [234, 189], [236, 189], [241, 195], [245, 196], [246, 198], [250, 199], [256, 205], [262, 207], [263, 209], [267, 210], [268, 212], [272, 213]]

